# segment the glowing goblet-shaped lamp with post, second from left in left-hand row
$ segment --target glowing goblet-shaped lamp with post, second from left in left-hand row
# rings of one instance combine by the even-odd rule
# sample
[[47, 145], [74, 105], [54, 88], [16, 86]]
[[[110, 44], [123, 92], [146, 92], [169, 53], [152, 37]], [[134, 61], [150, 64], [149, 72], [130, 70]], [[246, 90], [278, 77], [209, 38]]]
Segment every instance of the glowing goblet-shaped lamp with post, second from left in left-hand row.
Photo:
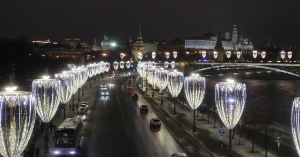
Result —
[[[32, 91], [35, 96], [35, 104], [40, 119], [45, 123], [45, 137], [48, 137], [48, 123], [54, 117], [60, 103], [59, 95], [61, 82], [59, 79], [49, 79], [48, 76], [42, 79], [34, 79]], [[45, 141], [44, 153], [49, 153], [48, 141]]]

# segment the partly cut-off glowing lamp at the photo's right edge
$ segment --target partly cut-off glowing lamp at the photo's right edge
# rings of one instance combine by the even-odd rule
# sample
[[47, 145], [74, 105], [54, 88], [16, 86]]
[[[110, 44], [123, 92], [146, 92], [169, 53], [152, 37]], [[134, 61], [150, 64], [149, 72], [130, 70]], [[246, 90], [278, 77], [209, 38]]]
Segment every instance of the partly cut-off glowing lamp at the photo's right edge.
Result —
[[293, 102], [292, 133], [298, 155], [300, 156], [300, 98], [295, 98]]

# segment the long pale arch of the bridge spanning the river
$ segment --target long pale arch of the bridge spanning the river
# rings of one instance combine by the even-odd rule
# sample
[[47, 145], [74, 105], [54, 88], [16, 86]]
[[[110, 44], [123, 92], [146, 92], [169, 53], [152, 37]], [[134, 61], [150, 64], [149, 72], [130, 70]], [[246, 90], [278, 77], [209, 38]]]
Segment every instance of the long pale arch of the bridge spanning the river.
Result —
[[252, 68], [261, 68], [261, 69], [267, 69], [267, 70], [272, 70], [272, 71], [276, 71], [276, 72], [281, 72], [281, 73], [286, 73], [289, 75], [293, 75], [296, 77], [300, 77], [300, 75], [286, 71], [286, 70], [281, 70], [281, 69], [277, 69], [277, 68], [272, 68], [272, 67], [266, 67], [266, 66], [262, 66], [262, 65], [251, 65], [251, 64], [226, 64], [226, 65], [215, 65], [215, 66], [211, 66], [211, 67], [206, 67], [206, 68], [201, 68], [195, 71], [192, 71], [191, 73], [195, 73], [195, 72], [199, 72], [199, 71], [205, 71], [205, 70], [212, 70], [212, 69], [220, 69], [220, 68], [235, 68], [235, 67], [252, 67]]

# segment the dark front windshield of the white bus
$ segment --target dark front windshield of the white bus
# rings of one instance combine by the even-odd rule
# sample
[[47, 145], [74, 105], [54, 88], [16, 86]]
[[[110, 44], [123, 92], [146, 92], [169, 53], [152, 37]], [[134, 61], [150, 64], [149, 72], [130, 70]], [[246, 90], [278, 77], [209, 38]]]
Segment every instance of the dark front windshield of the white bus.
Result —
[[59, 131], [55, 133], [56, 148], [73, 148], [75, 147], [75, 133], [73, 131]]

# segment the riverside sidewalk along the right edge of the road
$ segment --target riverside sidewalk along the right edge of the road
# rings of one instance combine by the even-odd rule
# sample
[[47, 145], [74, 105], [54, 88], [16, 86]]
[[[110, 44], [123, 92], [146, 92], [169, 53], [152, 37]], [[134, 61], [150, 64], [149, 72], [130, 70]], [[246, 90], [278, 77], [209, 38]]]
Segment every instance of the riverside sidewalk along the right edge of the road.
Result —
[[[145, 91], [144, 86], [144, 91]], [[146, 92], [145, 92], [146, 93]], [[148, 87], [148, 93], [147, 96], [152, 98], [152, 89]], [[212, 151], [215, 156], [227, 156], [227, 154], [224, 154], [224, 151], [220, 147], [216, 147], [216, 143], [219, 141], [219, 127], [221, 126], [220, 123], [216, 122], [216, 128], [214, 128], [214, 117], [213, 114], [209, 118], [210, 124], [207, 124], [207, 119], [202, 121], [202, 115], [199, 117], [196, 117], [196, 125], [197, 125], [197, 132], [191, 133], [192, 129], [192, 123], [193, 123], [193, 112], [192, 110], [189, 110], [187, 107], [187, 103], [185, 103], [185, 107], [183, 107], [182, 103], [179, 105], [177, 102], [176, 109], [177, 109], [177, 115], [173, 115], [173, 108], [174, 108], [174, 101], [173, 99], [170, 99], [167, 97], [168, 94], [164, 94], [164, 104], [160, 105], [161, 95], [154, 91], [154, 101], [157, 105], [160, 105], [168, 114], [170, 114], [175, 120], [177, 120], [182, 126], [190, 132], [191, 135], [193, 135], [199, 142], [204, 143], [204, 145]], [[206, 115], [207, 116], [207, 115]], [[200, 118], [201, 117], [201, 118]], [[224, 128], [224, 127], [223, 127]], [[228, 133], [229, 131], [225, 129], [225, 143], [228, 144]], [[206, 137], [205, 137], [206, 136]], [[213, 138], [214, 141], [211, 141], [210, 139], [207, 139], [207, 136], [210, 136]], [[251, 153], [252, 150], [252, 142], [248, 139], [241, 138], [241, 145], [238, 145], [239, 138], [238, 138], [237, 131], [235, 132], [235, 138], [232, 139], [232, 149], [233, 151], [238, 152], [239, 154], [243, 155], [244, 157], [264, 157], [265, 150], [264, 148], [259, 147], [255, 144], [255, 152]], [[219, 141], [219, 143], [221, 143]], [[217, 144], [220, 146], [220, 144]], [[268, 152], [268, 157], [277, 157], [275, 154]]]

